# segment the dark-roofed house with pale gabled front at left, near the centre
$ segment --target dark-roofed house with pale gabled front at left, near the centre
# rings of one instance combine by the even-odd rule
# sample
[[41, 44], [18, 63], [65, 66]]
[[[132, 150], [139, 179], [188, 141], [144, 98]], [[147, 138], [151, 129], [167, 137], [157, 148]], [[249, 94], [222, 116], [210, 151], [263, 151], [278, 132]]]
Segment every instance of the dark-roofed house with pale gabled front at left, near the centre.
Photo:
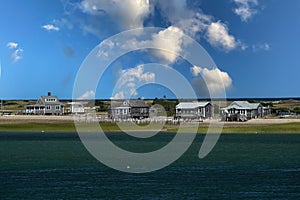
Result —
[[144, 119], [149, 117], [149, 108], [141, 99], [112, 101], [108, 116], [111, 119]]

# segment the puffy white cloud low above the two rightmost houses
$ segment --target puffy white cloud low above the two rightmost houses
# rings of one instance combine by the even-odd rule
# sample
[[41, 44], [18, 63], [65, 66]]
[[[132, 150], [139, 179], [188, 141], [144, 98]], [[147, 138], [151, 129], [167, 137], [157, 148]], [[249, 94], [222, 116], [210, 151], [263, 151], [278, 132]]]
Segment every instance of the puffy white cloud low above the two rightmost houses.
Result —
[[192, 86], [199, 96], [222, 94], [223, 89], [232, 87], [232, 79], [227, 72], [220, 69], [207, 69], [198, 66], [191, 67], [191, 73], [197, 77], [192, 81]]

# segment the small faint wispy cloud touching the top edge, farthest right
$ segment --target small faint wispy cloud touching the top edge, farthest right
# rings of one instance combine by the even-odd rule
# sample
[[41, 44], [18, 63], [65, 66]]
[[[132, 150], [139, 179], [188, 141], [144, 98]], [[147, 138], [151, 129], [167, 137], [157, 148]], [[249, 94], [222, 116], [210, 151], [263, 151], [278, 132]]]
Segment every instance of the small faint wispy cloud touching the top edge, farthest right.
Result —
[[240, 16], [243, 22], [247, 22], [251, 17], [257, 13], [256, 7], [258, 6], [257, 0], [233, 0], [237, 8], [234, 13]]

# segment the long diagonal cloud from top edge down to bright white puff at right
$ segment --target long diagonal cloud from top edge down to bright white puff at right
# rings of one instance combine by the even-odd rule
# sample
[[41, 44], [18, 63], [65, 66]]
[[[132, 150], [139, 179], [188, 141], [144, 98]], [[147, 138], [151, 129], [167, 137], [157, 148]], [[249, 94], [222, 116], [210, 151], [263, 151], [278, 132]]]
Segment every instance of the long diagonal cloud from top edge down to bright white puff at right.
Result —
[[194, 39], [204, 37], [212, 46], [225, 51], [236, 48], [244, 50], [246, 47], [229, 34], [229, 28], [225, 24], [215, 21], [213, 16], [206, 15], [199, 9], [193, 10], [188, 6], [187, 0], [158, 1], [157, 4], [167, 22]]

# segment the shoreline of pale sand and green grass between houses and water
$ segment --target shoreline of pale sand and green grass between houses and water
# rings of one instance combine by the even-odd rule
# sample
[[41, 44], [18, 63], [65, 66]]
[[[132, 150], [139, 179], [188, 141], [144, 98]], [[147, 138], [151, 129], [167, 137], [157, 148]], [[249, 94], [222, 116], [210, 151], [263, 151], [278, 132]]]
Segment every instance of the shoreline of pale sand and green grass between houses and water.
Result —
[[[37, 116], [37, 115], [9, 115], [0, 116], [0, 132], [76, 132], [73, 116]], [[81, 123], [88, 132], [93, 131], [89, 123]], [[104, 132], [121, 132], [114, 122], [100, 122]], [[247, 122], [220, 122], [218, 120], [204, 120], [203, 122], [183, 122], [181, 127], [189, 132], [190, 127], [198, 125], [198, 133], [206, 133], [212, 125], [222, 126], [222, 133], [294, 133], [300, 134], [300, 119], [251, 119]], [[154, 124], [155, 125], [155, 124]], [[125, 131], [153, 131], [152, 128], [140, 126], [132, 129], [125, 125]], [[155, 126], [154, 126], [155, 127]], [[178, 124], [165, 124], [161, 131], [176, 132]], [[156, 128], [156, 127], [155, 127]], [[97, 130], [94, 130], [97, 131]]]

